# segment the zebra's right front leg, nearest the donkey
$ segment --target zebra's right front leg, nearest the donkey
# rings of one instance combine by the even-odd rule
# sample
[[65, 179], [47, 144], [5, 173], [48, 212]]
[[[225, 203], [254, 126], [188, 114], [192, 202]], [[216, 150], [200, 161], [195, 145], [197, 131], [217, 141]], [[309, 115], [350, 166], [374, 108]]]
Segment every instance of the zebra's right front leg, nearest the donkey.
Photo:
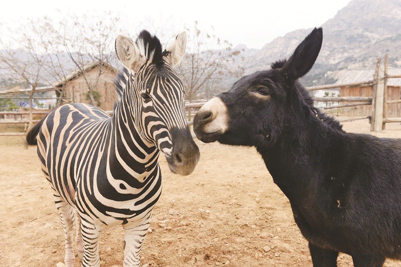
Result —
[[124, 234], [124, 267], [140, 265], [141, 245], [145, 238], [150, 222], [149, 212], [139, 221], [123, 224]]

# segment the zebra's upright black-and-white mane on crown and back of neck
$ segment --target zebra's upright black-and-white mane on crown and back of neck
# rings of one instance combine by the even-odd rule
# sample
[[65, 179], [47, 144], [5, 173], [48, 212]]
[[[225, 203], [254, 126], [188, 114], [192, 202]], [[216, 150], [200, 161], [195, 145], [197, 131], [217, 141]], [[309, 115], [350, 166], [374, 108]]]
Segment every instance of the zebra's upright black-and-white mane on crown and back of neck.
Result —
[[[160, 40], [156, 36], [152, 36], [148, 31], [142, 30], [135, 41], [138, 47], [139, 53], [146, 58], [147, 65], [155, 64], [160, 65], [163, 62], [163, 56], [166, 55], [166, 51], [163, 52]], [[124, 94], [128, 78], [130, 76], [129, 70], [123, 68], [117, 75], [117, 79], [114, 80], [116, 86], [116, 102], [114, 103], [114, 109], [117, 103], [120, 102], [122, 95]]]

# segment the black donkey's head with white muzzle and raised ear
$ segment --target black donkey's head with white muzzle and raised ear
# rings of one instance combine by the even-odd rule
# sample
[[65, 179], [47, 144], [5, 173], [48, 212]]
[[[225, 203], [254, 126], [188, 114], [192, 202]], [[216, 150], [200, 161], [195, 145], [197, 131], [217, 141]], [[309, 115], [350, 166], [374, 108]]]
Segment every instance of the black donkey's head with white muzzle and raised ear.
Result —
[[195, 115], [197, 138], [269, 147], [297, 117], [313, 116], [313, 101], [297, 79], [312, 68], [321, 45], [322, 29], [314, 29], [288, 60], [242, 77], [230, 91], [211, 99]]

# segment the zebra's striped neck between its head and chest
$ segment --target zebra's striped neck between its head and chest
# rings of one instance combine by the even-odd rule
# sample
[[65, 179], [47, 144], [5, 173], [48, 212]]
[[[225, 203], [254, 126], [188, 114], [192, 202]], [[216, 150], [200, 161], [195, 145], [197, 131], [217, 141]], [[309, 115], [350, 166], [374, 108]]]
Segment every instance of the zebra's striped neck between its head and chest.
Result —
[[132, 176], [142, 182], [153, 172], [157, 171], [159, 150], [154, 144], [144, 140], [136, 129], [135, 120], [139, 116], [135, 113], [134, 101], [123, 95], [116, 107], [111, 120], [111, 141], [109, 163], [110, 171], [118, 175], [119, 179], [128, 179]]

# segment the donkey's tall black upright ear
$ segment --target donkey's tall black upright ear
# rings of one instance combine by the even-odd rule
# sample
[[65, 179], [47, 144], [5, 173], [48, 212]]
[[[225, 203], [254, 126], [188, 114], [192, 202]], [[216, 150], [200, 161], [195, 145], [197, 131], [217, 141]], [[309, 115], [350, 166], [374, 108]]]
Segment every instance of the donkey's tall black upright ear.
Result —
[[298, 45], [294, 54], [292, 54], [283, 66], [283, 71], [288, 75], [288, 78], [296, 80], [312, 69], [317, 55], [319, 55], [320, 48], [322, 47], [322, 40], [322, 28], [315, 28], [304, 41]]

